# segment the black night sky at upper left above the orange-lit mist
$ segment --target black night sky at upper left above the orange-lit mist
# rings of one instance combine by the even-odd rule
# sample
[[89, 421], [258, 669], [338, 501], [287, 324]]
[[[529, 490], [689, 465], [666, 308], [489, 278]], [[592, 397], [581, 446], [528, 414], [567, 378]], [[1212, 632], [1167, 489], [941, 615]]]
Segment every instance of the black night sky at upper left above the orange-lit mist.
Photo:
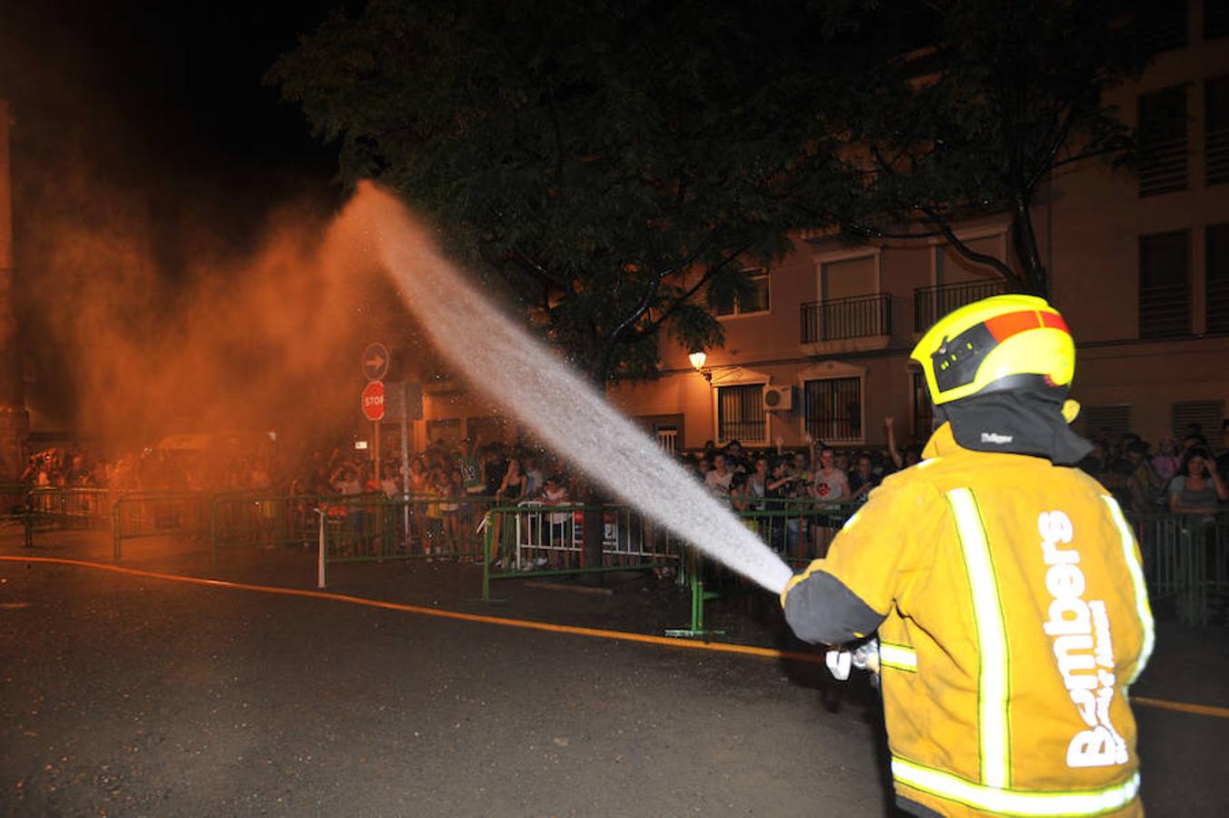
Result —
[[54, 172], [77, 150], [91, 173], [162, 211], [204, 203], [222, 228], [296, 193], [336, 197], [336, 152], [262, 77], [337, 5], [2, 0], [15, 176]]

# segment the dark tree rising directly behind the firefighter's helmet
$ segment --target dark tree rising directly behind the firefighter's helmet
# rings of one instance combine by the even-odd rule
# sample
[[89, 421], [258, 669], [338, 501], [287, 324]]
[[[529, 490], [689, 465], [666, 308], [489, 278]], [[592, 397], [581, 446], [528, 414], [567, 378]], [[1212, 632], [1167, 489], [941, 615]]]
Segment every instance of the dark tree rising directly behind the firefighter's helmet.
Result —
[[[1122, 158], [1131, 135], [1105, 93], [1139, 68], [1127, 0], [930, 0], [849, 74], [844, 131], [855, 195], [828, 208], [855, 240], [944, 237], [1011, 290], [1046, 295], [1032, 206], [1056, 173]], [[918, 4], [903, 7], [916, 12]], [[902, 4], [876, 17], [906, 18]], [[955, 225], [1008, 212], [1018, 268]], [[902, 225], [921, 225], [905, 230]]]

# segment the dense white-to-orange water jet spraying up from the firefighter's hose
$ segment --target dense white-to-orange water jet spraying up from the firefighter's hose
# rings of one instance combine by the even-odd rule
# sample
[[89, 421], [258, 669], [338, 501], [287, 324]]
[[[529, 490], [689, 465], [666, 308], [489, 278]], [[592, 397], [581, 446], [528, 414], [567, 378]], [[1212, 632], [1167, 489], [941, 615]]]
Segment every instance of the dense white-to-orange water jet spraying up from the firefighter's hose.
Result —
[[388, 193], [363, 184], [343, 224], [374, 246], [436, 350], [612, 495], [779, 593], [790, 570], [557, 355], [512, 324]]

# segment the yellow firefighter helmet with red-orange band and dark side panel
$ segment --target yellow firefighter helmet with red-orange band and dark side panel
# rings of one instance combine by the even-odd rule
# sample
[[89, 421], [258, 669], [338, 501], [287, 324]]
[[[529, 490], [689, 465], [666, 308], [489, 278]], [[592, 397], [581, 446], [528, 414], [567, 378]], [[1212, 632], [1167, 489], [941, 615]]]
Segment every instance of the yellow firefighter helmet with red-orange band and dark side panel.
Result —
[[936, 407], [998, 389], [1062, 388], [1066, 397], [1075, 375], [1067, 322], [1045, 298], [1026, 295], [960, 307], [935, 322], [909, 357], [922, 365]]

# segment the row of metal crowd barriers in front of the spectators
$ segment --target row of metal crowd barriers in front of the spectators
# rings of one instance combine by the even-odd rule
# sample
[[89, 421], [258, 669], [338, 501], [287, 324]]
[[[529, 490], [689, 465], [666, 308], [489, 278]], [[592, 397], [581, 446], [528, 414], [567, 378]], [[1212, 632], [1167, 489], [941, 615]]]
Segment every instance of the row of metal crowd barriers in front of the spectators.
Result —
[[[823, 556], [858, 504], [816, 499], [735, 499], [744, 524], [794, 570]], [[277, 496], [261, 493], [113, 493], [85, 486], [0, 485], [0, 515], [22, 521], [26, 545], [38, 531], [112, 529], [122, 543], [143, 537], [209, 537], [229, 547], [313, 543], [320, 583], [327, 565], [395, 559], [473, 560], [483, 565], [482, 598], [493, 580], [672, 567], [693, 598], [689, 631], [703, 633], [703, 602], [746, 581], [687, 556], [686, 545], [639, 512], [607, 506], [522, 504], [495, 507], [489, 496], [379, 494]], [[584, 516], [602, 515], [602, 559], [585, 564]], [[1180, 621], [1206, 625], [1229, 597], [1229, 511], [1215, 515], [1128, 515], [1154, 601]], [[685, 633], [685, 631], [680, 631]]]

